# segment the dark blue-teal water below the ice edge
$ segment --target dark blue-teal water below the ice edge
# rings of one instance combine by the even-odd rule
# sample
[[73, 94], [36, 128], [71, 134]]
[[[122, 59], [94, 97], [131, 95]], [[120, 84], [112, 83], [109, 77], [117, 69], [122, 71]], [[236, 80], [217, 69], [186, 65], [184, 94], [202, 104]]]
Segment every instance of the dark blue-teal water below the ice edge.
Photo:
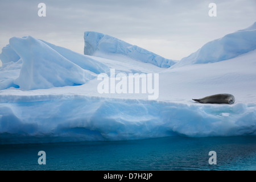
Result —
[[[209, 151], [217, 164], [209, 164]], [[256, 137], [0, 145], [0, 170], [256, 170]]]

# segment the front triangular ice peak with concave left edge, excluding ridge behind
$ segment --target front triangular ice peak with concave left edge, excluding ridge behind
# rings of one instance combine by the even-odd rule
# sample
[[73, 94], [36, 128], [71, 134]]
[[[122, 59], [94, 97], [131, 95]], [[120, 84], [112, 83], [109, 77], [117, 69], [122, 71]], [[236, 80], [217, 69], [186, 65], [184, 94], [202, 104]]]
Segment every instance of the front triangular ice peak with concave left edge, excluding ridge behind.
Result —
[[82, 85], [95, 77], [31, 36], [11, 38], [10, 46], [23, 61], [19, 77], [14, 80], [22, 90]]

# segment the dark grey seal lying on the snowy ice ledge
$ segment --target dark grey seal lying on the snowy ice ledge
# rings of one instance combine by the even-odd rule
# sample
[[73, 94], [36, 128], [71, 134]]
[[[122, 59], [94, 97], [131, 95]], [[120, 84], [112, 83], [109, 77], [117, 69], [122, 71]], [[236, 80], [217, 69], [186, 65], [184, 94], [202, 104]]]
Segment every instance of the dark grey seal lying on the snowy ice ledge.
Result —
[[221, 94], [215, 94], [212, 96], [207, 96], [199, 99], [192, 98], [192, 100], [196, 102], [200, 102], [202, 104], [233, 104], [235, 101], [235, 98], [232, 94], [221, 93]]

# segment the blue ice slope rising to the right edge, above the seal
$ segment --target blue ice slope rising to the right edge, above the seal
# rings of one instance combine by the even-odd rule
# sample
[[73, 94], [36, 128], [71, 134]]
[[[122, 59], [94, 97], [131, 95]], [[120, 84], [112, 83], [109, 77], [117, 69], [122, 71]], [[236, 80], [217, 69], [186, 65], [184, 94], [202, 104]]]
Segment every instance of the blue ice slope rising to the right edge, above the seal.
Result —
[[256, 49], [255, 40], [256, 22], [244, 30], [236, 31], [205, 44], [198, 51], [181, 59], [174, 67], [228, 60]]

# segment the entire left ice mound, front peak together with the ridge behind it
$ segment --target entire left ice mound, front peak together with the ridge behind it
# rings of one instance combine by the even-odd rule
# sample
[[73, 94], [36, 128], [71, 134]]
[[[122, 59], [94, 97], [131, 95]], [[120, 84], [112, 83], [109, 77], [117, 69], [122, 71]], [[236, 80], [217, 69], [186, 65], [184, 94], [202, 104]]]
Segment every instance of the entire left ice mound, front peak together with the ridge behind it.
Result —
[[[14, 86], [31, 90], [81, 85], [95, 78], [98, 73], [109, 73], [108, 66], [89, 56], [31, 36], [11, 38], [10, 44], [2, 49], [1, 57], [3, 57], [1, 59], [4, 63], [3, 67], [18, 60], [23, 64], [20, 71], [15, 70], [15, 77], [8, 77], [5, 72], [0, 82], [0, 89]], [[18, 77], [17, 72], [19, 72]]]

